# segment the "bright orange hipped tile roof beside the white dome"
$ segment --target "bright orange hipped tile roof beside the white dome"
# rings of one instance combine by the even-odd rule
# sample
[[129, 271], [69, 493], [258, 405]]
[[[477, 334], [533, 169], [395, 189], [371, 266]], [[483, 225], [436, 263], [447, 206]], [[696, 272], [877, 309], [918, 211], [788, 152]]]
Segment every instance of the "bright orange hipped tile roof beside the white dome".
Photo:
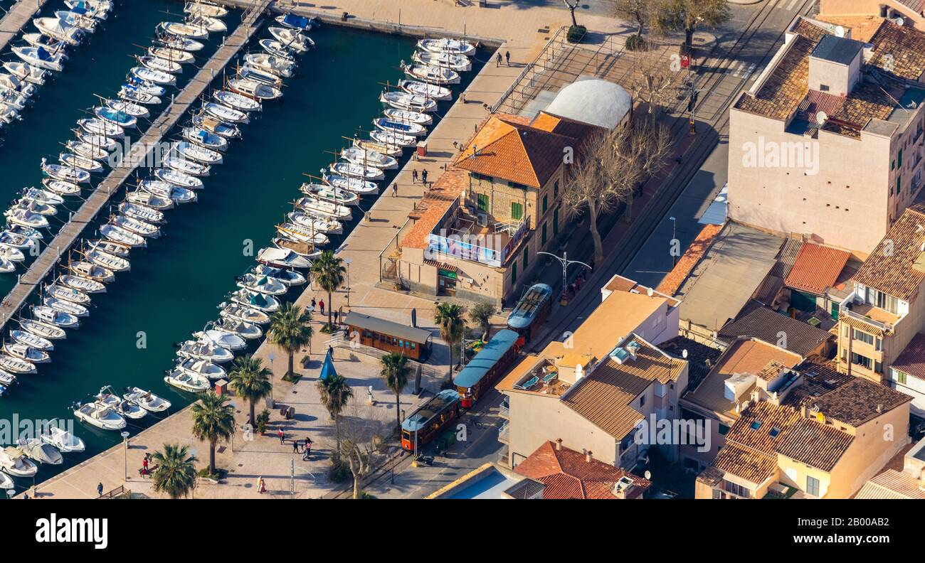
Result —
[[[470, 172], [542, 188], [559, 169], [566, 147], [580, 141], [495, 115], [475, 134], [454, 165]], [[477, 153], [476, 153], [477, 151]]]

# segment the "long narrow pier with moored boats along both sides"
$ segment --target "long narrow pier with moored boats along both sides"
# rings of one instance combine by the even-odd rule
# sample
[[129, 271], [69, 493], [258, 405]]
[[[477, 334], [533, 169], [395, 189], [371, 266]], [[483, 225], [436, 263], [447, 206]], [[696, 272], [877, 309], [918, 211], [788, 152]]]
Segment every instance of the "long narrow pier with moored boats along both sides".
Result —
[[[24, 2], [25, 0], [23, 0]], [[19, 2], [22, 4], [23, 2]], [[36, 0], [31, 0], [34, 4]], [[61, 227], [55, 239], [52, 239], [42, 253], [31, 263], [29, 269], [19, 276], [19, 282], [6, 295], [0, 303], [0, 328], [19, 312], [22, 305], [29, 299], [33, 289], [42, 284], [43, 279], [66, 253], [74, 242], [80, 238], [83, 229], [93, 222], [93, 219], [105, 208], [110, 198], [131, 177], [140, 164], [146, 162], [146, 157], [137, 157], [135, 154], [150, 153], [163, 139], [164, 135], [173, 129], [191, 105], [203, 94], [208, 85], [221, 74], [228, 61], [236, 55], [240, 48], [248, 43], [254, 31], [260, 28], [261, 18], [272, 0], [259, 0], [250, 5], [250, 9], [242, 18], [238, 28], [228, 35], [225, 43], [218, 48], [215, 55], [190, 80], [186, 87], [179, 92], [173, 103], [169, 104], [151, 127], [147, 129], [142, 138], [132, 143], [132, 164], [121, 165], [114, 168], [103, 181], [101, 181], [90, 196], [80, 205], [80, 209], [70, 218], [67, 224]], [[19, 6], [19, 4], [17, 6]], [[136, 153], [139, 151], [139, 153]], [[143, 151], [143, 152], [142, 152]]]

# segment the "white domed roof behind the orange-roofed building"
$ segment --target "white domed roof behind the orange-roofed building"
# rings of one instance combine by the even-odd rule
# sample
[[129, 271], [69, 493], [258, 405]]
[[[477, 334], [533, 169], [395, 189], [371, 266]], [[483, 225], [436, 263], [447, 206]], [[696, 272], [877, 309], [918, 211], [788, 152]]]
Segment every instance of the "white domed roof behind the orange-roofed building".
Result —
[[578, 80], [556, 95], [546, 108], [553, 116], [613, 129], [630, 111], [633, 99], [619, 84], [607, 80]]

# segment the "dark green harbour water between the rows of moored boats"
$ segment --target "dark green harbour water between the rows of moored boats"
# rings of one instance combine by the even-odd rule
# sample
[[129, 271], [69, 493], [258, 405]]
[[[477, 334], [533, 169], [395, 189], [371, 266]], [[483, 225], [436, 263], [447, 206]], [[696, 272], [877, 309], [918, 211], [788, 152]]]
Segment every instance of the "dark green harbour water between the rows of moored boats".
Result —
[[[129, 4], [117, 6], [116, 18], [96, 32], [89, 48], [74, 52], [66, 71], [43, 88], [40, 101], [7, 131], [6, 145], [0, 148], [0, 197], [9, 200], [22, 186], [39, 183], [39, 160], [56, 156], [57, 143], [72, 138], [69, 129], [81, 116], [78, 108], [93, 104], [93, 92], [117, 90], [133, 62], [124, 54], [138, 51], [132, 43], [150, 44], [154, 25], [167, 18], [162, 10], [176, 13], [179, 4], [132, 0], [130, 6], [130, 17]], [[225, 19], [233, 29], [240, 15]], [[173, 344], [216, 319], [216, 305], [234, 288], [234, 276], [254, 263], [253, 256], [244, 254], [245, 241], [253, 240], [255, 250], [268, 244], [273, 226], [298, 195], [302, 173], [317, 174], [328, 165], [331, 156], [325, 151], [343, 146], [341, 136], [372, 127], [381, 109], [379, 82], [401, 78], [399, 61], [411, 60], [414, 44], [407, 38], [333, 27], [312, 36], [318, 48], [302, 55], [300, 73], [288, 81], [284, 97], [265, 103], [262, 114], [241, 126], [243, 139], [234, 141], [225, 164], [213, 166], [212, 176], [204, 178], [199, 202], [166, 212], [166, 236], [149, 241], [145, 250], [132, 251], [131, 271], [117, 275], [107, 293], [93, 298], [91, 314], [81, 319], [80, 329], [56, 341], [52, 362], [40, 365], [37, 375], [20, 377], [19, 385], [0, 398], [0, 419], [10, 420], [14, 413], [20, 420], [71, 418], [69, 404], [105, 385], [152, 389], [173, 402], [171, 411], [189, 403], [190, 397], [163, 381], [175, 358]], [[113, 201], [120, 200], [117, 196]], [[366, 199], [364, 208], [371, 202]], [[94, 229], [88, 227], [85, 234]], [[333, 238], [330, 248], [341, 241]], [[0, 290], [6, 292], [13, 281], [0, 278]], [[294, 299], [299, 290], [287, 297]], [[140, 349], [141, 333], [147, 346]], [[129, 425], [131, 434], [154, 422], [153, 415], [140, 422]], [[120, 440], [117, 433], [79, 422], [75, 428], [87, 452], [66, 456], [63, 466], [40, 467], [39, 482]]]

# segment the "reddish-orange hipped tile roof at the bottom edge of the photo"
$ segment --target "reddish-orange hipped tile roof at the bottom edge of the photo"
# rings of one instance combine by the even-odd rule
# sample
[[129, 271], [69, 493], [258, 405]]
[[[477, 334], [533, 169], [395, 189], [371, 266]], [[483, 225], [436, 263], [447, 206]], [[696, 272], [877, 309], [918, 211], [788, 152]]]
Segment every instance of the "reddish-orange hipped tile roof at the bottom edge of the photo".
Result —
[[556, 449], [550, 441], [537, 447], [514, 471], [545, 483], [543, 498], [618, 498], [613, 494], [613, 485], [623, 477], [633, 480], [635, 487], [630, 491], [630, 497], [635, 498], [651, 484], [642, 477], [597, 459], [588, 461], [585, 454], [568, 447]]

